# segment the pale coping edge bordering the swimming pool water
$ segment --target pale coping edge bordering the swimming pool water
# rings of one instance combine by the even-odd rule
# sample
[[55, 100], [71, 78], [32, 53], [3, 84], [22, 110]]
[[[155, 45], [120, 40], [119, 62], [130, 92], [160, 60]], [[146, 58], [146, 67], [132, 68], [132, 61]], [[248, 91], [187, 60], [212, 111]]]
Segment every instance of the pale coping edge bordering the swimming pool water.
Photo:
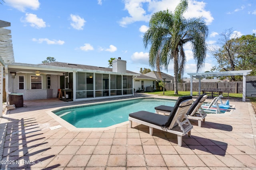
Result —
[[[138, 100], [138, 99], [144, 99], [144, 98], [156, 98], [156, 99], [165, 99], [165, 100], [176, 100], [176, 99], [168, 99], [168, 98], [161, 98], [161, 97], [157, 97], [157, 96], [147, 96], [147, 97], [138, 97], [138, 98], [132, 98], [132, 99], [119, 99], [119, 100], [112, 100], [112, 101], [104, 101], [104, 102], [96, 102], [96, 103], [90, 103], [90, 104], [78, 104], [78, 105], [74, 105], [74, 106], [61, 106], [61, 107], [55, 107], [54, 109], [48, 110], [46, 111], [46, 113], [48, 115], [50, 115], [54, 120], [56, 120], [58, 123], [60, 123], [60, 125], [62, 125], [62, 127], [65, 127], [66, 129], [68, 129], [69, 131], [106, 131], [106, 130], [110, 130], [110, 129], [114, 129], [116, 127], [120, 127], [122, 125], [126, 125], [129, 123], [129, 121], [125, 121], [122, 123], [118, 123], [112, 126], [108, 126], [108, 127], [90, 127], [90, 128], [85, 128], [85, 127], [75, 127], [74, 125], [72, 125], [71, 123], [68, 123], [67, 121], [65, 121], [64, 119], [62, 119], [61, 117], [59, 117], [58, 115], [56, 115], [53, 111], [56, 111], [58, 109], [63, 109], [63, 108], [70, 108], [70, 107], [82, 107], [82, 106], [92, 106], [92, 105], [99, 105], [99, 104], [105, 104], [105, 103], [113, 103], [113, 102], [122, 102], [122, 101], [126, 101], [126, 100]], [[232, 106], [232, 108], [235, 108], [235, 105]], [[228, 113], [210, 113], [210, 115], [231, 115], [233, 112], [233, 109], [231, 109]]]

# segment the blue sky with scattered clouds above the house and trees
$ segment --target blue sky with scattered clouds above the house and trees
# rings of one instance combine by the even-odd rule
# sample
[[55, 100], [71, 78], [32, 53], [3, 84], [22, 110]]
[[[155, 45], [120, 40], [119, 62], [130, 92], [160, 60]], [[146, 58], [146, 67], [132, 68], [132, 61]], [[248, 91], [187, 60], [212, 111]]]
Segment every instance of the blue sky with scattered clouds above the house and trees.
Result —
[[[1, 1], [2, 2], [2, 1]], [[5, 2], [5, 3], [4, 3]], [[154, 12], [174, 11], [179, 0], [4, 0], [0, 20], [8, 21], [16, 63], [56, 61], [108, 67], [121, 57], [127, 70], [150, 68], [142, 37]], [[255, 0], [189, 0], [186, 18], [202, 16], [208, 25], [209, 47], [232, 28], [238, 36], [256, 33]], [[189, 44], [186, 73], [196, 72]], [[216, 64], [209, 54], [201, 72]], [[152, 68], [150, 68], [152, 70]], [[166, 72], [166, 70], [162, 70]], [[173, 63], [168, 74], [173, 76]]]

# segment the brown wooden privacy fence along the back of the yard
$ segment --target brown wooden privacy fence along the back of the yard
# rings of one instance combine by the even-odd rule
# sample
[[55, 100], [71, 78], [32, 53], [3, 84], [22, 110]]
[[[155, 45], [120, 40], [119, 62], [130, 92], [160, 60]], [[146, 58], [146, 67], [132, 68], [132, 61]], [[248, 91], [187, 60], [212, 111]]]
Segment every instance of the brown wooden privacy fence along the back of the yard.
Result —
[[[219, 89], [229, 93], [243, 93], [243, 82], [201, 82], [201, 90]], [[199, 83], [193, 82], [193, 92], [198, 92]], [[174, 91], [174, 83], [167, 82], [165, 89]], [[178, 91], [190, 91], [189, 83], [178, 83]]]

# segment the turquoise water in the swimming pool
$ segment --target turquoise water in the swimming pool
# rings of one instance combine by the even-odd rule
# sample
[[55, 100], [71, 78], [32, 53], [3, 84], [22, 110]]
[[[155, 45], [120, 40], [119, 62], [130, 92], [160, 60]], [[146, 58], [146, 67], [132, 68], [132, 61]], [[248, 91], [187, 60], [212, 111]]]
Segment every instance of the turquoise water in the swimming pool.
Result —
[[56, 115], [75, 127], [108, 127], [128, 121], [129, 113], [136, 111], [155, 112], [154, 107], [159, 105], [174, 106], [176, 100], [146, 98], [109, 102], [90, 106], [79, 106], [58, 109]]

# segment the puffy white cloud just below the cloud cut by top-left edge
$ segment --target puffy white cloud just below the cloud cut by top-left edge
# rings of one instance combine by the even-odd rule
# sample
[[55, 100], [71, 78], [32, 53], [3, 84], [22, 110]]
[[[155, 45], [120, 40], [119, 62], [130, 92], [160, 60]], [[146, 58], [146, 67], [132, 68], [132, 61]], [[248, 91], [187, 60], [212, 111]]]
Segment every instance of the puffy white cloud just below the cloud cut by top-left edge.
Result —
[[26, 18], [23, 20], [24, 23], [29, 23], [31, 27], [35, 27], [37, 29], [46, 27], [46, 23], [42, 18], [38, 18], [36, 14], [26, 14]]

